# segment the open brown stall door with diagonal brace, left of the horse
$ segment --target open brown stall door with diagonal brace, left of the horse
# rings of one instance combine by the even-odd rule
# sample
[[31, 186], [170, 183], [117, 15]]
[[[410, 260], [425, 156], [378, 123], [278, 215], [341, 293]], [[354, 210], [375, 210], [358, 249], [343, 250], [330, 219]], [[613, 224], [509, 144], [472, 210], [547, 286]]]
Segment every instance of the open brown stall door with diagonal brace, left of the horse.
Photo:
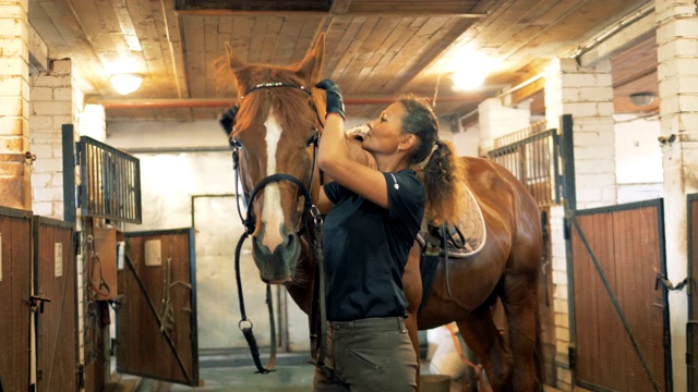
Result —
[[125, 234], [117, 371], [198, 385], [192, 229]]

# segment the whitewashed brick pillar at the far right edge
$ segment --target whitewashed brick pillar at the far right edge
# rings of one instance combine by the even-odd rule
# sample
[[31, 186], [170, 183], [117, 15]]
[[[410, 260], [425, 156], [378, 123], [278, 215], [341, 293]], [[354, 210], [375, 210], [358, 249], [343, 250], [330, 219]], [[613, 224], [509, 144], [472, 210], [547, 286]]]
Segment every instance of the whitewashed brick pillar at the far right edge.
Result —
[[[698, 15], [695, 0], [655, 0], [667, 278], [687, 274], [686, 195], [698, 192]], [[687, 390], [686, 291], [669, 293], [674, 390]], [[695, 359], [694, 359], [695, 360]]]

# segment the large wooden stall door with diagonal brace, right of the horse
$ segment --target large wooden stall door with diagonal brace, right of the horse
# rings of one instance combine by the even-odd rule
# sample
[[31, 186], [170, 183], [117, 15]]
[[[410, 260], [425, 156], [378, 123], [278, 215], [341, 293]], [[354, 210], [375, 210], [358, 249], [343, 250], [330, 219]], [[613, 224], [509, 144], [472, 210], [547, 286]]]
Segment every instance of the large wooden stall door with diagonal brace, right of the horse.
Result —
[[575, 382], [591, 390], [671, 391], [666, 294], [655, 290], [657, 274], [666, 273], [661, 199], [576, 211], [576, 220]]

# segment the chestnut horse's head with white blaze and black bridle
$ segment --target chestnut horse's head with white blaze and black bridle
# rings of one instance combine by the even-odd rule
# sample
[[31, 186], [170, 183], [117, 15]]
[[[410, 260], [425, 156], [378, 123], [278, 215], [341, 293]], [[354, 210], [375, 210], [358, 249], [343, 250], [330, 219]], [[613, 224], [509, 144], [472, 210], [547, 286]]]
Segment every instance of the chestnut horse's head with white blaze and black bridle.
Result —
[[324, 95], [311, 93], [323, 56], [324, 35], [303, 61], [289, 66], [248, 64], [228, 47], [239, 105], [231, 137], [239, 146], [240, 180], [250, 198], [253, 258], [265, 282], [293, 279], [301, 250], [298, 231], [310, 205], [304, 195], [317, 194], [314, 147], [325, 105]]

